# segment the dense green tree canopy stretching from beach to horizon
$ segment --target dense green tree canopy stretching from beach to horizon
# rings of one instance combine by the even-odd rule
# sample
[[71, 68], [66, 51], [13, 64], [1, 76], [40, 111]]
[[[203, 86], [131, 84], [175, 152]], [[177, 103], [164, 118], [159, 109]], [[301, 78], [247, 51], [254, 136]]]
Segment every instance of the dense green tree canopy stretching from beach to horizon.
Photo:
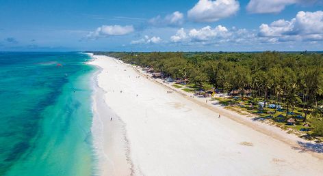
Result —
[[[302, 108], [303, 119], [320, 126], [323, 135], [323, 55], [320, 53], [94, 53], [153, 68], [175, 79], [188, 78], [201, 89], [236, 91], [281, 104], [287, 111]], [[248, 91], [246, 91], [248, 90]], [[246, 92], [248, 95], [246, 95]]]

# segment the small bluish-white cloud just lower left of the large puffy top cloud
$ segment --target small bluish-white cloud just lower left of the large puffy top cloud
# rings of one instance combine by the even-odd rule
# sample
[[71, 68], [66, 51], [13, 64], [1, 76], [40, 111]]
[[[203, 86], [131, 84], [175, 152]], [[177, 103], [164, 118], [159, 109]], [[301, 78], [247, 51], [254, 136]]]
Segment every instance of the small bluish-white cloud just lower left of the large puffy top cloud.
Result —
[[179, 26], [182, 25], [184, 21], [184, 15], [181, 12], [173, 12], [172, 14], [168, 14], [165, 18], [161, 16], [156, 16], [155, 18], [151, 18], [148, 20], [148, 23], [155, 26]]

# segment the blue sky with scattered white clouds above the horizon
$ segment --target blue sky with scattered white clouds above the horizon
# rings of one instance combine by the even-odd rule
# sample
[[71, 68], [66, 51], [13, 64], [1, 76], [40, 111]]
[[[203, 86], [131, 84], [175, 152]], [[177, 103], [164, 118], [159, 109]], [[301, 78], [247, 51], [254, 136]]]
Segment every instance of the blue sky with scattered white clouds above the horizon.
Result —
[[0, 51], [323, 50], [323, 0], [0, 0]]

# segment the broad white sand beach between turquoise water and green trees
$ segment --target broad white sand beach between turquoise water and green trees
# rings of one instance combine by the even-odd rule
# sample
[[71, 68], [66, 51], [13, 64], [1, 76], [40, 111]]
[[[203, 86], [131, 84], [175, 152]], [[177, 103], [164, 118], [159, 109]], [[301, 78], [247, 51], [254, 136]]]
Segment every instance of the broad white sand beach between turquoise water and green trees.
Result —
[[218, 118], [130, 65], [94, 58], [101, 70], [92, 132], [102, 175], [322, 175], [322, 159], [271, 136], [272, 128]]

